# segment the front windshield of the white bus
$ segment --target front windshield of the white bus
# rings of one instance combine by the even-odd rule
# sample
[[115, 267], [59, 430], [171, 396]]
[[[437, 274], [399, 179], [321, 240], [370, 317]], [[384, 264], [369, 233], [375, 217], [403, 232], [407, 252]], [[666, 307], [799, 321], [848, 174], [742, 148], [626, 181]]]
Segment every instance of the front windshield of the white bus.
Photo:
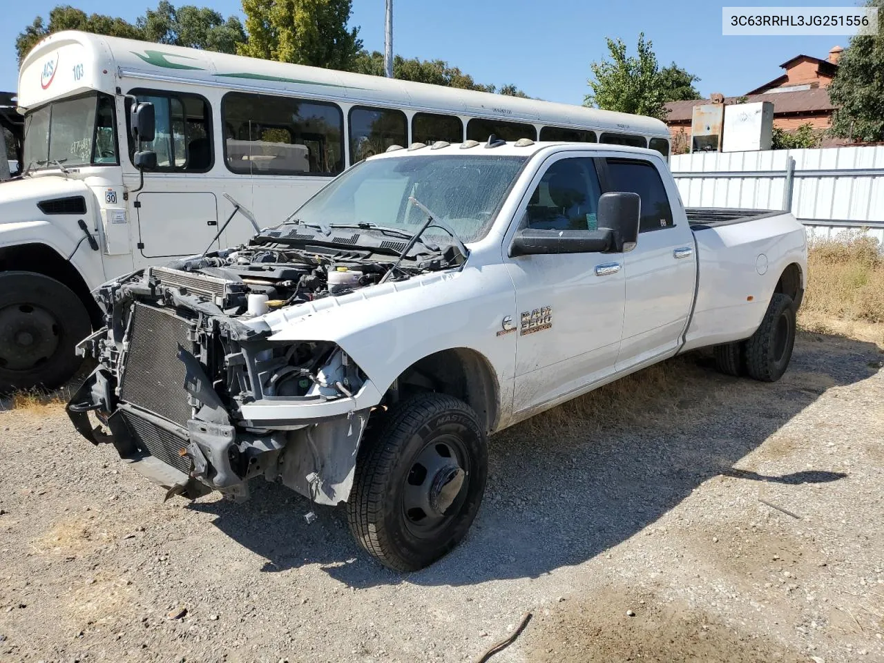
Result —
[[48, 103], [25, 116], [26, 170], [118, 164], [113, 98], [88, 95]]

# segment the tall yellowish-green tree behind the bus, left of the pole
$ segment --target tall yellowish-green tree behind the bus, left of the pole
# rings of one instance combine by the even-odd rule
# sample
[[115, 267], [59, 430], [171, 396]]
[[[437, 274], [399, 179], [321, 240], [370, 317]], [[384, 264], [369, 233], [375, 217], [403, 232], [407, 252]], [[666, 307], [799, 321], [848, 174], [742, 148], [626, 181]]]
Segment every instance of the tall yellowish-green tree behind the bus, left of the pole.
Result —
[[347, 28], [351, 0], [242, 0], [242, 11], [240, 55], [347, 70], [362, 49], [359, 28]]

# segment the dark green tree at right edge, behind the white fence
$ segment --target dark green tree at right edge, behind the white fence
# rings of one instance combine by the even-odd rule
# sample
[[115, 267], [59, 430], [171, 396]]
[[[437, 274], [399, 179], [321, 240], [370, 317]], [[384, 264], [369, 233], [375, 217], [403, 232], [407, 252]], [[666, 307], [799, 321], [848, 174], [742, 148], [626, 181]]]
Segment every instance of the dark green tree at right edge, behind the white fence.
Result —
[[[884, 0], [870, 0], [884, 16]], [[836, 106], [831, 131], [858, 141], [884, 141], [884, 31], [850, 39], [828, 88]]]

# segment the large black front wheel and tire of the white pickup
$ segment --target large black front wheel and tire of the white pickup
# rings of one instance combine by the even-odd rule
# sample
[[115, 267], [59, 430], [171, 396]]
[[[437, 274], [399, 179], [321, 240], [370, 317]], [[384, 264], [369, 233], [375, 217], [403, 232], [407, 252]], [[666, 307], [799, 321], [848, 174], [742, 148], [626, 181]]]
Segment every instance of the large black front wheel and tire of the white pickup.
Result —
[[379, 562], [416, 571], [458, 545], [476, 517], [488, 475], [484, 431], [466, 403], [438, 393], [383, 417], [360, 446], [347, 521]]

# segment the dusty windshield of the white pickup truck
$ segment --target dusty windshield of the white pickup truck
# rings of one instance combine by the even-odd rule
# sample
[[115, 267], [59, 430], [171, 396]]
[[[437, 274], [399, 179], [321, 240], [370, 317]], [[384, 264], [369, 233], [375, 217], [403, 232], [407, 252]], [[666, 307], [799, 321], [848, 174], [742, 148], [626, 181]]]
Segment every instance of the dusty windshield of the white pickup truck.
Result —
[[[416, 232], [426, 220], [414, 196], [462, 241], [484, 237], [527, 156], [401, 156], [364, 161], [292, 216], [305, 224], [375, 224]], [[432, 232], [432, 230], [428, 231]]]

